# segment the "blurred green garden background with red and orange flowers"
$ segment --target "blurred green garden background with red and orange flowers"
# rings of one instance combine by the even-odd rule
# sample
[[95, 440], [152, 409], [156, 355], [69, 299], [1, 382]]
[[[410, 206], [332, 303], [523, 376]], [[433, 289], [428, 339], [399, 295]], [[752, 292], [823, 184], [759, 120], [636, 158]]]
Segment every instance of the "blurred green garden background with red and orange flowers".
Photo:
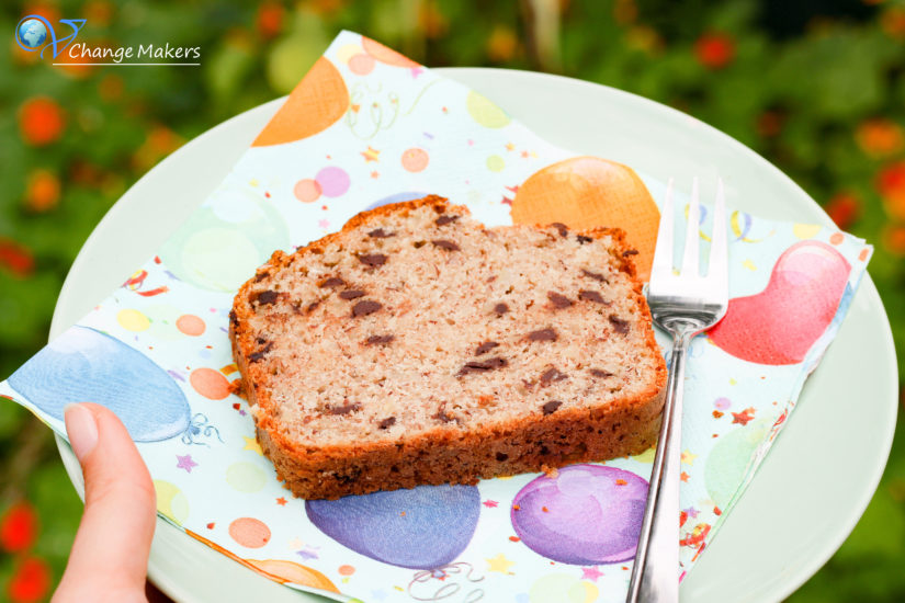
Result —
[[[13, 39], [34, 13], [86, 19], [80, 41], [201, 46], [202, 65], [52, 67]], [[46, 342], [63, 280], [116, 200], [186, 140], [287, 93], [341, 29], [432, 67], [612, 86], [734, 136], [876, 246], [870, 274], [905, 373], [903, 2], [60, 0], [0, 8], [0, 378]], [[80, 511], [49, 430], [0, 403], [0, 601], [49, 598]], [[903, 567], [900, 426], [858, 527], [790, 601], [905, 601]]]

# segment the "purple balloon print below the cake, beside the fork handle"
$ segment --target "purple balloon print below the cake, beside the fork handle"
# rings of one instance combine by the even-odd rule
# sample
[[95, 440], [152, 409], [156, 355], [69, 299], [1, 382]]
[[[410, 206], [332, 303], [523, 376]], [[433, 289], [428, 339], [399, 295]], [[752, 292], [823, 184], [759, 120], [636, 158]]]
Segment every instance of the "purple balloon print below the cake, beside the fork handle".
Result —
[[647, 481], [632, 471], [572, 465], [530, 481], [512, 501], [512, 527], [534, 553], [576, 566], [635, 556]]

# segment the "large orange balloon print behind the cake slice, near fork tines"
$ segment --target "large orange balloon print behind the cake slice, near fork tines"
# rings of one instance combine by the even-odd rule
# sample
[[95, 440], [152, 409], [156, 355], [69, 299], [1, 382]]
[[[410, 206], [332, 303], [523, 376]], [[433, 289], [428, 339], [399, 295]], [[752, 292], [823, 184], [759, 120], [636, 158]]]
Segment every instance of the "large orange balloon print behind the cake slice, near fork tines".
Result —
[[634, 170], [600, 159], [575, 157], [531, 174], [516, 193], [512, 221], [546, 225], [559, 221], [576, 230], [597, 226], [625, 230], [638, 277], [647, 281], [660, 213]]

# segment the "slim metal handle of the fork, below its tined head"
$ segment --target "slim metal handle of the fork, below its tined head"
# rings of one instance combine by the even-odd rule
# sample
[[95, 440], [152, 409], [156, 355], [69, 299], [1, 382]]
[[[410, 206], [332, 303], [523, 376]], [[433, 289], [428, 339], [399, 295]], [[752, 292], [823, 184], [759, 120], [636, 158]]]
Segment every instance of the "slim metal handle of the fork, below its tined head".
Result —
[[[626, 603], [679, 601], [679, 473], [682, 444], [682, 384], [686, 352], [694, 326], [676, 326], [666, 385], [663, 424], [647, 490], [647, 507], [632, 568]], [[682, 328], [687, 327], [687, 328]]]

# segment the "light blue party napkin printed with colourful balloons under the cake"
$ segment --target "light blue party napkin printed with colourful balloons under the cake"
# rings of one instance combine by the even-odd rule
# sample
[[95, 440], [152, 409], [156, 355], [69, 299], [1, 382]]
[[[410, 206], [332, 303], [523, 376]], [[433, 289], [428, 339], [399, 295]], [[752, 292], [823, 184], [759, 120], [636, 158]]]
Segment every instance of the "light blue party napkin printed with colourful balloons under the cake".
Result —
[[[150, 468], [159, 513], [287, 587], [376, 602], [622, 601], [653, 451], [477, 486], [294, 499], [231, 394], [227, 314], [274, 249], [425, 193], [488, 225], [624, 226], [643, 272], [658, 175], [553, 147], [476, 92], [346, 32], [157, 254], [0, 391], [60, 434], [67, 402], [115, 410]], [[793, 410], [871, 254], [817, 226], [742, 212], [726, 226], [729, 310], [694, 340], [686, 383], [677, 578]]]

